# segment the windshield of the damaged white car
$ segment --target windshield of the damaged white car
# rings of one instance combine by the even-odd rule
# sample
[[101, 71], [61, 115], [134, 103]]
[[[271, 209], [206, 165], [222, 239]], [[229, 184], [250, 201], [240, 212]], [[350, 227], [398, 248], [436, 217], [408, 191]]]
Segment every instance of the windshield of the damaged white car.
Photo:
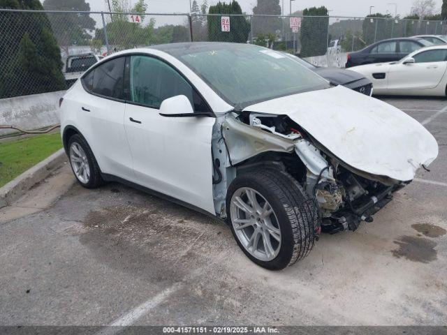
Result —
[[189, 66], [236, 109], [330, 87], [298, 61], [256, 45], [198, 43], [175, 52], [166, 51]]

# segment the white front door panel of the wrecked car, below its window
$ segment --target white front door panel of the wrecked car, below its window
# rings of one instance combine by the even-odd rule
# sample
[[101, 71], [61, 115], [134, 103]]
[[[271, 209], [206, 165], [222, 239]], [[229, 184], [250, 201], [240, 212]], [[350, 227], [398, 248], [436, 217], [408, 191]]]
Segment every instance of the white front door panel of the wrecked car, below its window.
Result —
[[162, 117], [159, 112], [126, 104], [124, 125], [138, 184], [215, 214], [211, 182], [215, 119]]

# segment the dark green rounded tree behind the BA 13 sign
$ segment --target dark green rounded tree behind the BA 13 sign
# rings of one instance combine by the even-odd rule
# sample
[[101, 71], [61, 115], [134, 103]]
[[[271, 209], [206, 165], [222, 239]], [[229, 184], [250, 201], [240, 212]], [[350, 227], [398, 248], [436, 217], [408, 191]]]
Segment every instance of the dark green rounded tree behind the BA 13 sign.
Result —
[[[210, 14], [242, 14], [237, 1], [230, 3], [218, 2], [210, 6]], [[244, 16], [230, 16], [230, 31], [221, 31], [221, 17], [213, 15], [208, 17], [208, 40], [221, 42], [247, 43], [250, 33], [250, 22]]]

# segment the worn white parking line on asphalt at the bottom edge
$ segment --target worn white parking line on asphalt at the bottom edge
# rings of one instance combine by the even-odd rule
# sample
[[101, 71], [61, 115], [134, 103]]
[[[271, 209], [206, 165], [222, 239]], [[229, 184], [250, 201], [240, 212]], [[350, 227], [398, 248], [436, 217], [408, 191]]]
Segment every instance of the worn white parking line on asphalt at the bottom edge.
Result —
[[152, 308], [155, 308], [159, 304], [161, 304], [167, 297], [172, 295], [174, 292], [179, 290], [182, 287], [181, 283], [175, 283], [170, 286], [170, 288], [166, 288], [166, 290], [161, 291], [155, 297], [143, 302], [140, 306], [133, 308], [129, 313], [123, 315], [121, 318], [118, 318], [110, 325], [105, 326], [95, 335], [114, 335], [123, 331], [122, 327], [127, 327], [133, 324], [136, 320], [145, 315]]

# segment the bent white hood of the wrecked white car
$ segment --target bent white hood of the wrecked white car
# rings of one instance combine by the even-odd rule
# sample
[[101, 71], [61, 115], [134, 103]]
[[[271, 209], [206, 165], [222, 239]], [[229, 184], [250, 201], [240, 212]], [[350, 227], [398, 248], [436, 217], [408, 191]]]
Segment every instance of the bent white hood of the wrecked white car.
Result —
[[388, 103], [337, 86], [256, 103], [246, 112], [285, 114], [351, 167], [410, 181], [438, 156], [418, 121]]

